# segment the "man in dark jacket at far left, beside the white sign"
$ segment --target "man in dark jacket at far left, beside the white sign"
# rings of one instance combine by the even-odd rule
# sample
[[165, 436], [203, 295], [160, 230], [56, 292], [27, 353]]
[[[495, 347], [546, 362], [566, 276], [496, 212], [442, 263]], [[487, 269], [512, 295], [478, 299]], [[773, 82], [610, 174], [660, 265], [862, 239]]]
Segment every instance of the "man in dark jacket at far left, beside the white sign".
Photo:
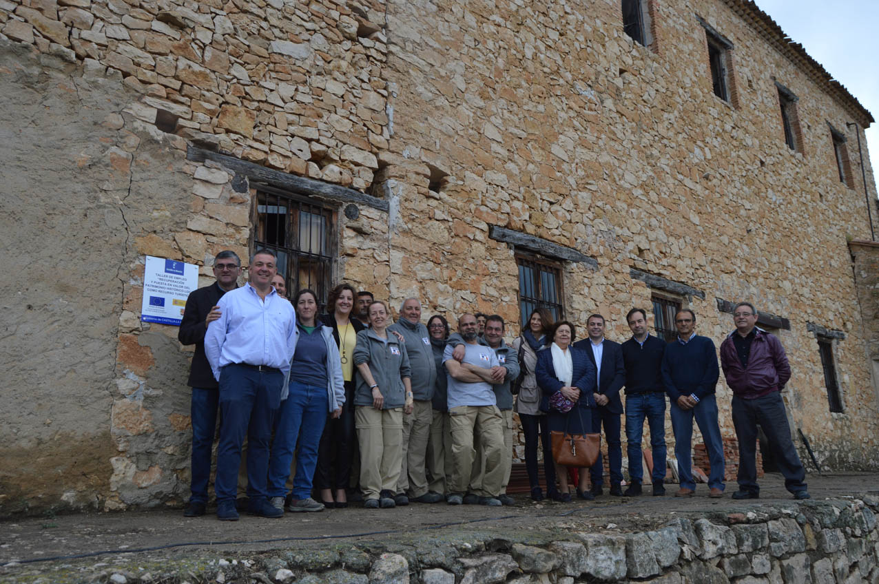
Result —
[[185, 345], [195, 345], [193, 364], [189, 369], [189, 386], [193, 388], [190, 416], [193, 425], [193, 458], [190, 471], [192, 494], [183, 515], [197, 517], [205, 514], [207, 481], [211, 474], [211, 448], [220, 393], [214, 372], [205, 357], [205, 331], [210, 322], [220, 318], [216, 306], [222, 295], [238, 286], [241, 259], [234, 251], [221, 251], [214, 257], [214, 284], [194, 290], [186, 299], [183, 319], [177, 338]]

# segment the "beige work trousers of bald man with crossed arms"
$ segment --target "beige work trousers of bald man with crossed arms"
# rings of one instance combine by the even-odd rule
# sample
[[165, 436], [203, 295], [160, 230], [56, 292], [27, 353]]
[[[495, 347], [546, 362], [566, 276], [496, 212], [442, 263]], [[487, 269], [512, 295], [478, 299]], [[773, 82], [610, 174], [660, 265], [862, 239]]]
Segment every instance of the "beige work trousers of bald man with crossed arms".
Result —
[[504, 482], [504, 429], [497, 406], [458, 406], [449, 411], [452, 427], [452, 479], [449, 491], [464, 494], [470, 486], [476, 460], [475, 439], [482, 444], [485, 472], [473, 491], [483, 497], [497, 497]]

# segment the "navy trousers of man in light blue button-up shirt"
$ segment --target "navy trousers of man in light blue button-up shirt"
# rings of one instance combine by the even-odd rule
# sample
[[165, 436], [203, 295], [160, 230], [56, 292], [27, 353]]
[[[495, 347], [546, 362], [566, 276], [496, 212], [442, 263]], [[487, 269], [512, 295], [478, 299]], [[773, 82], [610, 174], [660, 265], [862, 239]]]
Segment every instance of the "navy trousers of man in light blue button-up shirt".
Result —
[[241, 446], [247, 435], [247, 495], [265, 499], [272, 423], [280, 407], [284, 376], [229, 364], [220, 372], [220, 444], [217, 446], [217, 503], [235, 501]]

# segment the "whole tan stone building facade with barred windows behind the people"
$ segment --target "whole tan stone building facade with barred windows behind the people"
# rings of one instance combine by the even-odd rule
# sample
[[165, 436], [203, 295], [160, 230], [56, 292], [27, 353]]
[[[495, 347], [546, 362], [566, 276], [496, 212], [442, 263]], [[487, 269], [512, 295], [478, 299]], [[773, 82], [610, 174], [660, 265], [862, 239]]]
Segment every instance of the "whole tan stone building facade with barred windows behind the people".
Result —
[[258, 244], [510, 335], [534, 299], [719, 344], [750, 299], [792, 428], [875, 468], [871, 115], [751, 2], [636, 5], [640, 42], [617, 0], [0, 0], [0, 515], [185, 498], [191, 348], [140, 321], [144, 257], [205, 285]]

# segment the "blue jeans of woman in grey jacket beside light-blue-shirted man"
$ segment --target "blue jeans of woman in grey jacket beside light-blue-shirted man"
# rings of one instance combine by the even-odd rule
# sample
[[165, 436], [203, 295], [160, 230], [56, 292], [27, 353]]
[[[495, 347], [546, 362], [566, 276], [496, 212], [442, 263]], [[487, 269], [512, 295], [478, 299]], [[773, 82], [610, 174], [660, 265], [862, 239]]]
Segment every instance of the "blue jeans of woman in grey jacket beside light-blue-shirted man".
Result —
[[307, 499], [311, 496], [311, 480], [317, 465], [317, 445], [327, 420], [330, 398], [326, 386], [307, 386], [290, 382], [290, 394], [280, 404], [269, 458], [270, 497], [287, 494], [287, 478], [290, 463], [296, 452], [296, 473], [293, 479], [293, 498]]

